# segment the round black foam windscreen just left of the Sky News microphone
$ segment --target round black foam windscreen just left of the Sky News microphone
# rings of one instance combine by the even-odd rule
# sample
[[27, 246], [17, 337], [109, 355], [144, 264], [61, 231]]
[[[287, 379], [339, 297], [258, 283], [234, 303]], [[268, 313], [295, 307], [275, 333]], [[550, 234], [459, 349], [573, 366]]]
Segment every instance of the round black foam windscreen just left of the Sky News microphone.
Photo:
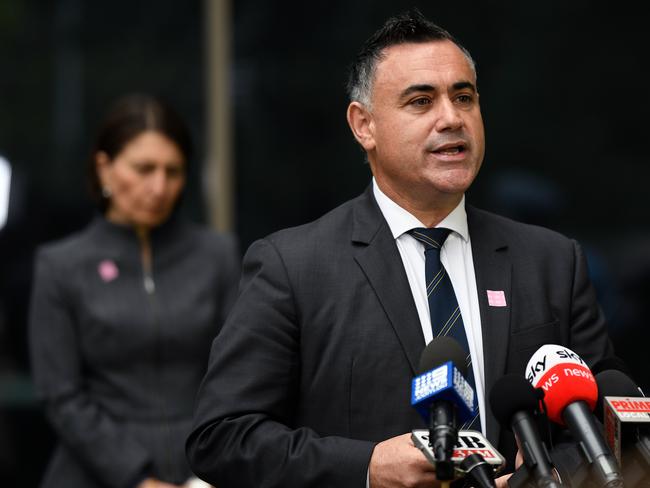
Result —
[[539, 395], [526, 378], [507, 374], [499, 378], [490, 391], [490, 407], [499, 423], [510, 429], [512, 416], [525, 410], [534, 412], [539, 407]]

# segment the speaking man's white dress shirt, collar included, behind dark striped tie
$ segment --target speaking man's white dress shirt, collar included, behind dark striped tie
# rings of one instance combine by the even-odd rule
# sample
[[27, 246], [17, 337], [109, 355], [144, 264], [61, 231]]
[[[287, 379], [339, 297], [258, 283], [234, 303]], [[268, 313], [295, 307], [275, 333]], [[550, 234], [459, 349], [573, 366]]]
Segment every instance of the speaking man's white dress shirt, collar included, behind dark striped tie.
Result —
[[[420, 317], [425, 344], [433, 339], [429, 301], [427, 300], [424, 277], [424, 244], [408, 234], [415, 227], [426, 227], [415, 216], [388, 198], [373, 178], [373, 192], [381, 213], [390, 228], [399, 250], [406, 277], [408, 278], [415, 306]], [[483, 374], [483, 340], [481, 336], [481, 315], [472, 260], [472, 245], [467, 229], [465, 196], [458, 206], [436, 227], [451, 229], [440, 250], [440, 261], [451, 279], [460, 313], [465, 325], [465, 333], [472, 355], [472, 368], [476, 383], [476, 395], [481, 413], [481, 430], [485, 434], [485, 375]]]

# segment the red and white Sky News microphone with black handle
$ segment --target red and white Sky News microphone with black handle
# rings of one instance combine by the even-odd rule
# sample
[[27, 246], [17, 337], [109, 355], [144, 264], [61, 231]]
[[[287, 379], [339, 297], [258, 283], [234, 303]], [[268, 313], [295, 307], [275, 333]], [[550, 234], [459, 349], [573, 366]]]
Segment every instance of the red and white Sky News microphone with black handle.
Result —
[[578, 440], [598, 484], [622, 487], [620, 468], [591, 413], [598, 399], [598, 387], [582, 358], [564, 346], [546, 344], [528, 361], [526, 378], [534, 387], [544, 390], [548, 418], [568, 426]]

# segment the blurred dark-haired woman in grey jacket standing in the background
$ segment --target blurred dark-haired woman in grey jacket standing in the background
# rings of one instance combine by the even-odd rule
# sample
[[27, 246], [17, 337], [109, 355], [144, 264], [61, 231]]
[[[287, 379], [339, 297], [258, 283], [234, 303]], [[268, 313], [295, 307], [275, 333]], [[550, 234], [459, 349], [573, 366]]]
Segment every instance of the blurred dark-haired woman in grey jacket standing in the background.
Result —
[[194, 486], [185, 439], [240, 256], [176, 215], [189, 156], [169, 106], [119, 100], [92, 152], [100, 214], [37, 252], [32, 372], [60, 439], [43, 488]]

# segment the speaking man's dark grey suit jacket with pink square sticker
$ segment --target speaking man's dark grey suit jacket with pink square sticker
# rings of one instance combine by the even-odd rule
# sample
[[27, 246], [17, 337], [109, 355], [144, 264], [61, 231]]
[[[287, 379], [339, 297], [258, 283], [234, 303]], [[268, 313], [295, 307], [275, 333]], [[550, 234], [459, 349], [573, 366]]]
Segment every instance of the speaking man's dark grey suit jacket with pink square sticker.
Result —
[[[486, 391], [564, 344], [612, 353], [578, 245], [467, 208]], [[486, 290], [508, 306], [490, 307]], [[378, 441], [424, 424], [410, 406], [424, 338], [402, 260], [369, 188], [319, 220], [254, 243], [212, 346], [187, 453], [220, 488], [363, 488]], [[488, 437], [512, 435], [487, 412]]]

